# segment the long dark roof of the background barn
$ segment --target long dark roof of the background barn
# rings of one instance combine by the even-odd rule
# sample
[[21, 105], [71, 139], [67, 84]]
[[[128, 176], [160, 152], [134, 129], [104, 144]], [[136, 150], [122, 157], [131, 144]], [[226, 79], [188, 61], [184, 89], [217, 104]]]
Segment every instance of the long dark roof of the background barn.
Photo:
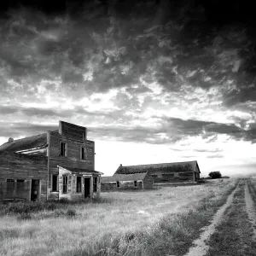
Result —
[[139, 165], [139, 166], [119, 166], [114, 174], [129, 174], [150, 171], [165, 171], [165, 172], [200, 172], [197, 161], [186, 161], [176, 163], [163, 163], [152, 165]]

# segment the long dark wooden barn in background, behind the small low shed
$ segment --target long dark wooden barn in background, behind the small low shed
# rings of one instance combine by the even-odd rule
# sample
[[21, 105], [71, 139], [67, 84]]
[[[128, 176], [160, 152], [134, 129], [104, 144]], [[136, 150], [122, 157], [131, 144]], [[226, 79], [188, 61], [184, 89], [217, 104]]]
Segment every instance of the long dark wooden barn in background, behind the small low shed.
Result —
[[114, 175], [127, 175], [141, 172], [148, 172], [153, 178], [154, 184], [196, 182], [200, 179], [201, 173], [198, 163], [195, 160], [140, 166], [120, 165]]

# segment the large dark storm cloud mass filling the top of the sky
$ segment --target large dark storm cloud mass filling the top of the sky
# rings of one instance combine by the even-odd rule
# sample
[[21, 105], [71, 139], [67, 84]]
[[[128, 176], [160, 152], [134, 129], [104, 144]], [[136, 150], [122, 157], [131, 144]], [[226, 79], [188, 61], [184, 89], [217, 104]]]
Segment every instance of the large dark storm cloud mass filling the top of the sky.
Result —
[[[218, 4], [66, 1], [55, 9], [21, 1], [20, 9], [10, 3], [15, 9], [2, 20], [1, 65], [5, 76], [18, 82], [30, 78], [30, 86], [61, 78], [74, 97], [130, 88], [145, 75], [167, 91], [179, 90], [184, 81], [209, 89], [234, 79], [236, 89], [223, 91], [224, 105], [253, 101], [255, 88], [248, 87], [255, 75], [253, 28], [238, 12], [246, 12], [244, 5]], [[228, 15], [222, 12], [226, 6]], [[222, 19], [231, 16], [240, 19], [239, 26]], [[170, 60], [160, 61], [162, 56]], [[87, 72], [90, 81], [84, 80]]]

